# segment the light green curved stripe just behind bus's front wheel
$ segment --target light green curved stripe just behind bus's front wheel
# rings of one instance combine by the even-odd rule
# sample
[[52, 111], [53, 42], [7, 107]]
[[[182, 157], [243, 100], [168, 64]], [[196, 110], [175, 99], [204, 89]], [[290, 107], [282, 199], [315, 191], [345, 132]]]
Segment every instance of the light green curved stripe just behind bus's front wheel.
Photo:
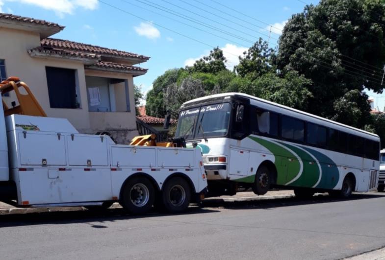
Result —
[[[253, 136], [249, 136], [249, 138], [259, 143], [260, 145], [264, 146], [274, 155], [275, 157], [274, 164], [276, 165], [276, 168], [277, 168], [277, 184], [285, 185], [287, 183], [286, 160], [287, 158], [297, 158], [297, 156], [295, 156], [293, 153], [291, 153], [289, 150], [285, 149], [281, 145], [278, 145], [274, 142], [270, 142], [270, 141], [253, 137]], [[291, 165], [290, 168], [291, 168], [290, 172], [292, 172], [290, 176], [291, 175], [294, 175], [294, 177], [297, 176], [301, 168], [298, 160], [293, 161], [293, 164]]]

